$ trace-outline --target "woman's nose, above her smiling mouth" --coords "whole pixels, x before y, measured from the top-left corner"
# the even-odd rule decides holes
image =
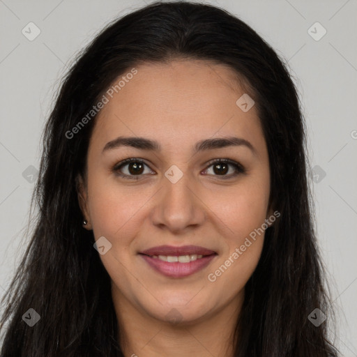
[[[206,206],[189,176],[183,174],[176,183],[162,178],[163,187],[155,197],[151,211],[153,225],[178,234],[203,224]]]

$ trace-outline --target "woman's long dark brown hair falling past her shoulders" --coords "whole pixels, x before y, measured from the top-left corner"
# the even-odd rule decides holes
[[[332,312],[314,233],[305,122],[287,65],[247,24],[226,10],[185,1],[156,2],[114,20],[63,78],[43,136],[38,209],[31,240],[2,303],[1,356],[123,356],[111,281],[93,231],[82,227],[78,177],[95,123],[66,132],[109,86],[141,63],[200,59],[229,66],[248,84],[268,148],[271,205],[281,213],[266,230],[261,258],[245,285],[234,331],[234,356],[337,356],[329,341]],[[98,115],[98,114],[97,114]],[[328,316],[319,327],[309,314]],[[33,308],[33,327],[22,315]]]

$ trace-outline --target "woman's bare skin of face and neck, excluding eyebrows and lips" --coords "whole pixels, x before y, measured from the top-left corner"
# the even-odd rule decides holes
[[[268,152],[255,106],[243,112],[236,105],[245,91],[221,64],[174,60],[136,68],[96,119],[79,188],[89,221],[85,228],[93,229],[96,240],[105,236],[112,243],[100,259],[112,279],[124,354],[233,356],[244,286],[259,261],[264,234],[214,282],[208,274],[273,213]],[[102,153],[119,136],[157,140],[162,151],[121,146]],[[199,140],[227,136],[248,140],[256,153],[247,146],[192,149]],[[146,163],[137,181],[112,169],[127,158]],[[224,179],[234,167],[221,174],[208,163],[216,158],[239,162],[245,174]],[[176,183],[165,176],[172,165],[183,173]],[[135,176],[132,164],[121,172]],[[199,245],[218,255],[202,271],[168,278],[138,254],[164,244]],[[179,322],[168,321],[172,309]]]

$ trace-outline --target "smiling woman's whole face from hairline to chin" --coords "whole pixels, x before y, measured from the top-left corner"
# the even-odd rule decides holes
[[[96,119],[79,190],[86,228],[116,299],[162,321],[208,319],[242,301],[261,255],[264,233],[252,232],[271,215],[261,124],[254,105],[236,104],[245,92],[226,66],[136,69]]]

